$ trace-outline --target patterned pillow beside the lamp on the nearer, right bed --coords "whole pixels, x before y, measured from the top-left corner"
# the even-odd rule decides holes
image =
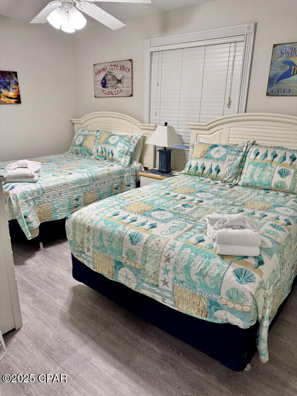
[[[237,184],[247,151],[254,141],[220,145],[195,142],[191,158],[181,172]]]

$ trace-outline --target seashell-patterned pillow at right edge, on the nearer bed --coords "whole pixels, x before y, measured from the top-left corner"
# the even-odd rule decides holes
[[[240,185],[297,194],[297,150],[253,145]]]

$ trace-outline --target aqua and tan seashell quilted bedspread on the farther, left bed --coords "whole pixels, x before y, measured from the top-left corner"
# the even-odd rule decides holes
[[[44,221],[65,218],[85,205],[136,187],[134,165],[70,153],[33,160],[42,162],[37,183],[3,184],[8,220],[17,219],[28,239],[38,235]],[[10,162],[0,162],[0,174],[6,174]]]

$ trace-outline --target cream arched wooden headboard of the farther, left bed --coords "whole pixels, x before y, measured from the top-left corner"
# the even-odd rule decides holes
[[[144,135],[144,145],[140,162],[143,166],[148,167],[148,169],[154,167],[154,146],[147,145],[146,141],[155,130],[155,125],[142,124],[133,117],[122,113],[114,113],[113,111],[97,111],[87,114],[82,118],[72,118],[71,122],[74,125],[74,130],[76,128],[105,129],[107,131]]]

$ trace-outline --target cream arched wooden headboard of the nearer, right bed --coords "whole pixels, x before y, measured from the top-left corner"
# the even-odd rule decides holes
[[[205,124],[188,122],[188,126],[191,143],[200,138],[211,143],[240,143],[254,139],[261,145],[297,148],[297,117],[291,115],[243,113],[226,115]]]

